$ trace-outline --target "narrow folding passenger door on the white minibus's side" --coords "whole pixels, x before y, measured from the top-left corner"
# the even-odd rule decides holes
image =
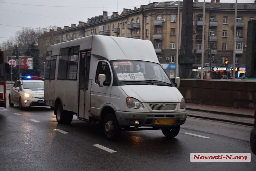
[[[79,64],[79,106],[78,118],[89,119],[90,116],[90,89],[91,82],[89,82],[89,71],[91,62],[91,51],[80,52]]]

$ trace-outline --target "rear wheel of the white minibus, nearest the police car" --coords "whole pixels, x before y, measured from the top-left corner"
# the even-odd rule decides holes
[[[65,112],[62,109],[61,104],[59,103],[56,106],[56,120],[60,124],[69,124],[73,120],[73,114],[70,114],[69,112]]]

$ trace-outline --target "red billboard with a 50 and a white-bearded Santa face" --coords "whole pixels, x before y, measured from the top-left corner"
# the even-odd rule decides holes
[[[20,56],[19,59],[16,56],[8,56],[8,64],[13,66],[13,69],[33,69],[33,57]]]

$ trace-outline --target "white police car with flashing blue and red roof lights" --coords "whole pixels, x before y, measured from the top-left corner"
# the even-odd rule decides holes
[[[44,81],[41,77],[21,76],[10,88],[9,105],[19,105],[20,109],[46,106]]]

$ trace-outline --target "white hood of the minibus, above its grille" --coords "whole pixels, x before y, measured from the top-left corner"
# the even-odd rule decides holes
[[[133,97],[140,102],[170,102],[180,103],[180,91],[176,87],[156,85],[125,85],[120,86],[128,97]]]

